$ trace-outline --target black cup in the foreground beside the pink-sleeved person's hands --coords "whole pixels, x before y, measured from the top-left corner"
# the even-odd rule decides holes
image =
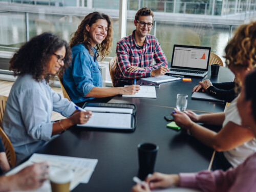
[[[153,143],[141,143],[138,145],[140,179],[144,180],[148,174],[154,172],[158,148]]]

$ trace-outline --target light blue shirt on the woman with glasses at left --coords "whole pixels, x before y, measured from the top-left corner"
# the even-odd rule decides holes
[[[17,163],[52,139],[52,111],[69,117],[75,104],[54,92],[45,80],[19,76],[9,94],[2,127],[13,144]]]

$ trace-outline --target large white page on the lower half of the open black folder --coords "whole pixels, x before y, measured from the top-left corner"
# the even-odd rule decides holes
[[[87,123],[77,124],[77,126],[110,129],[131,129],[132,114],[93,112],[93,116],[91,116]]]

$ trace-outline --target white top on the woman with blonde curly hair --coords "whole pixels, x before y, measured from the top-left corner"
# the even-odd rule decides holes
[[[241,125],[241,118],[237,109],[237,99],[234,99],[225,111],[225,120],[222,124],[224,127],[229,121]],[[237,167],[244,160],[256,152],[256,139],[245,142],[244,144],[233,148],[232,150],[223,152],[226,159],[233,167]]]

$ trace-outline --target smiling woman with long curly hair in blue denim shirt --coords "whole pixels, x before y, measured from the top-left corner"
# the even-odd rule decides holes
[[[78,106],[84,102],[107,101],[118,94],[133,95],[139,86],[102,88],[102,77],[97,58],[110,54],[112,48],[112,22],[108,15],[99,12],[88,14],[82,20],[70,41],[73,60],[63,74],[63,86],[70,99]],[[101,98],[101,99],[95,99]]]

